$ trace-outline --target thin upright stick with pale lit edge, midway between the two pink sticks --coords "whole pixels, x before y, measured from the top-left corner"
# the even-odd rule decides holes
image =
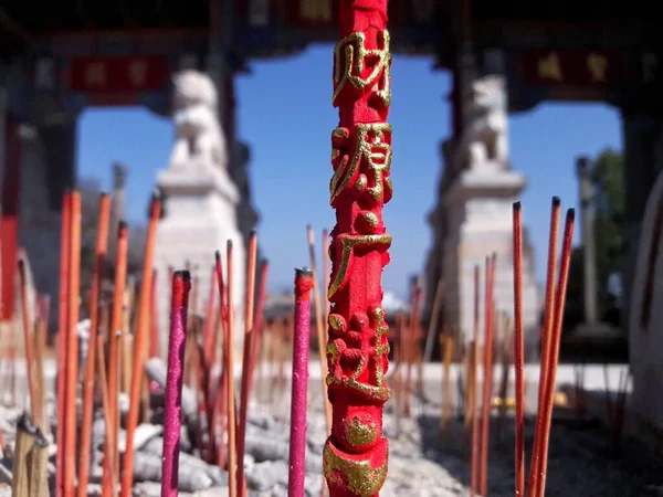
[[[228,402],[227,402],[227,420],[228,420],[228,495],[229,497],[238,497],[238,482],[236,482],[236,436],[235,436],[235,398],[234,398],[234,309],[233,309],[233,257],[232,257],[232,242],[228,241],[227,248],[227,263],[228,269],[228,292],[225,295],[228,309],[228,331],[225,332],[225,370],[228,374]]]

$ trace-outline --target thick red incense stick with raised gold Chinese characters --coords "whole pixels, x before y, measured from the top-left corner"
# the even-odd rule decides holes
[[[391,101],[387,0],[341,0],[334,56],[332,134],[336,210],[329,256],[328,395],[332,435],[324,450],[330,497],[376,496],[385,483],[389,442],[382,408],[390,391],[389,328],[381,308],[381,274],[391,236],[382,205],[391,199]]]

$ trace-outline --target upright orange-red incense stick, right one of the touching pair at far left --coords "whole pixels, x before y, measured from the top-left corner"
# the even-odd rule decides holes
[[[72,192],[69,266],[69,334],[64,434],[64,497],[74,496],[76,479],[76,384],[78,383],[78,297],[81,279],[81,193]]]

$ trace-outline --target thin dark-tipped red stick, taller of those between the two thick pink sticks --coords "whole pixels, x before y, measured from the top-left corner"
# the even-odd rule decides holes
[[[241,495],[246,495],[244,482],[244,442],[246,436],[246,412],[249,410],[249,372],[251,369],[251,341],[253,337],[253,306],[255,297],[255,265],[257,257],[257,237],[251,232],[249,237],[249,260],[246,264],[246,294],[244,296],[244,351],[242,356],[242,383],[240,387],[240,423],[238,430],[238,485]]]

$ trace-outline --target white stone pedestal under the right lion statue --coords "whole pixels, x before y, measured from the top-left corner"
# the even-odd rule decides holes
[[[446,191],[449,232],[443,245],[445,319],[463,338],[474,329],[474,268],[480,266],[480,342],[484,335],[486,256],[497,253],[495,306],[514,314],[513,203],[525,187],[525,178],[498,167],[463,171]],[[523,247],[523,311],[526,350],[537,343],[538,300],[534,261]],[[502,324],[498,322],[502,327]]]

